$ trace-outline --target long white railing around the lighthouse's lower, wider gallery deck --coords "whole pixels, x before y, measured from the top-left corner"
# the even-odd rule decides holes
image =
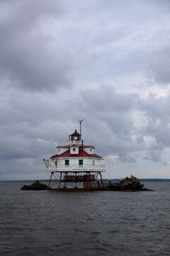
[[[54,164],[47,166],[47,171],[106,171],[106,166],[103,164]]]

